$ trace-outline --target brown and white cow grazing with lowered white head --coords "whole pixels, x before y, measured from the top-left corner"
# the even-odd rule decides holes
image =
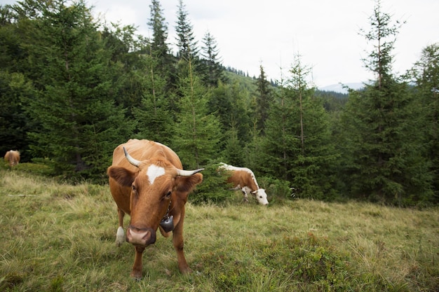
[[[225,163],[220,163],[219,168],[231,172],[227,182],[232,184],[232,190],[241,189],[243,191],[245,202],[248,202],[248,194],[251,193],[256,196],[259,204],[269,204],[269,201],[266,200],[265,190],[259,188],[255,174],[250,169],[247,167],[235,167]]]

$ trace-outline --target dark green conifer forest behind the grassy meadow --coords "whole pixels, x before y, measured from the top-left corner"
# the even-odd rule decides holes
[[[252,169],[271,200],[439,203],[439,43],[394,74],[404,24],[379,1],[361,32],[374,44],[363,60],[374,80],[346,95],[314,88],[300,55],[282,81],[262,65],[257,77],[239,74],[222,65],[210,32],[195,41],[184,1],[176,40],[160,1],[149,8],[146,37],[96,20],[83,0],[0,6],[1,155],[18,150],[23,167],[107,183],[114,148],[149,139],[185,169],[205,168],[198,202],[222,200],[215,170],[225,162]]]

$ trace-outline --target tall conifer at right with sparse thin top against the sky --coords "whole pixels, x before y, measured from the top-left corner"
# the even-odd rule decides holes
[[[351,191],[358,197],[412,204],[413,195],[428,193],[428,174],[419,152],[419,129],[407,85],[393,75],[393,45],[400,23],[382,13],[377,1],[365,34],[374,49],[365,67],[376,81],[351,90],[344,126],[351,160],[346,162]]]

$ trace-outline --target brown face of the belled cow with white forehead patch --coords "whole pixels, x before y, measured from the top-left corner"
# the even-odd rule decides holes
[[[135,160],[132,164],[138,167],[137,172],[113,166],[108,174],[131,188],[126,240],[136,246],[148,246],[156,241],[156,230],[171,202],[186,202],[187,194],[203,181],[203,175],[197,173],[202,169],[184,171],[168,160]]]

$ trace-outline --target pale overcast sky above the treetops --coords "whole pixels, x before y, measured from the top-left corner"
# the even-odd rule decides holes
[[[94,14],[107,21],[135,25],[151,36],[147,22],[150,0],[86,0]],[[15,2],[13,0],[0,0]],[[168,43],[175,48],[178,0],[160,0],[168,23]],[[301,55],[311,67],[309,82],[319,88],[336,83],[357,83],[373,78],[364,68],[369,46],[360,29],[370,30],[373,0],[183,0],[194,35],[210,32],[217,41],[224,66],[267,78],[288,77],[288,69]],[[393,50],[394,73],[403,74],[419,60],[421,50],[439,42],[438,0],[381,0],[381,11],[393,21],[406,21]]]

